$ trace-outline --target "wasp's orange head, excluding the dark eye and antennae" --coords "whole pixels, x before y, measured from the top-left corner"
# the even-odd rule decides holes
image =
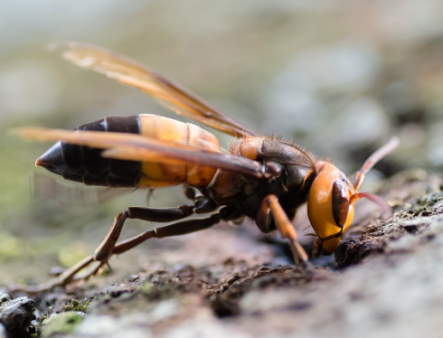
[[[333,211],[333,185],[335,181],[341,181],[341,172],[330,163],[321,163],[324,166],[319,170],[309,190],[307,198],[307,214],[309,221],[320,239],[334,237],[341,233],[340,237],[323,240],[325,253],[333,252],[340,243],[344,233],[353,221],[353,204],[349,206],[349,213],[343,230],[335,223]],[[351,187],[350,187],[351,189]],[[348,191],[349,196],[353,193]]]

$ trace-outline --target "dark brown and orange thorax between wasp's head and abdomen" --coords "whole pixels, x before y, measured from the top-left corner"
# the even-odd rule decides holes
[[[315,160],[303,148],[273,137],[245,137],[231,146],[231,154],[248,157],[262,164],[281,165],[278,177],[258,179],[246,174],[219,170],[206,193],[219,205],[233,205],[255,219],[264,197],[275,194],[293,217],[306,195],[315,173]]]

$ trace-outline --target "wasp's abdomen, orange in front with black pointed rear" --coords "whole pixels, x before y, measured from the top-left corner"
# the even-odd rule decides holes
[[[156,115],[106,117],[82,125],[79,130],[132,133],[171,141],[202,150],[218,151],[211,133],[189,123]],[[205,142],[202,142],[205,141]],[[162,164],[101,157],[101,149],[57,142],[36,162],[63,178],[87,185],[109,187],[165,187],[189,183],[196,187],[211,182],[216,169],[194,164]]]

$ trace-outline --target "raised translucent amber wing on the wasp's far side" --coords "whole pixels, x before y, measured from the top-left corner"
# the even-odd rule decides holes
[[[82,68],[105,74],[108,78],[127,86],[141,89],[177,114],[190,117],[231,136],[257,136],[249,128],[212,108],[192,92],[126,56],[81,42],[53,43],[50,49],[61,47],[67,48],[63,52],[66,60]]]

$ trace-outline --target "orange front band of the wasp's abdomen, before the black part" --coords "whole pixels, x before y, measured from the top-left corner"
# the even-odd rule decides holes
[[[219,152],[219,141],[201,127],[157,115],[140,115],[140,135],[169,141],[201,150]],[[160,188],[189,183],[195,187],[209,184],[216,168],[197,164],[162,164],[142,162],[142,177],[137,187]]]

